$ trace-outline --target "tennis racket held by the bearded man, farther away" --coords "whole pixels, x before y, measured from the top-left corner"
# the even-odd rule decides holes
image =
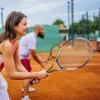
[[[58,44],[54,45],[50,50],[50,54],[47,60],[49,61],[52,58],[56,58],[59,50],[60,50],[60,46]]]

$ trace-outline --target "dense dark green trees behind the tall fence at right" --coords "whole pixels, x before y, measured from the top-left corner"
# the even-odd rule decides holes
[[[80,20],[79,22],[74,22],[73,24],[70,25],[70,30],[73,29],[74,33],[92,33],[97,30],[100,31],[100,18],[95,17],[92,20]]]

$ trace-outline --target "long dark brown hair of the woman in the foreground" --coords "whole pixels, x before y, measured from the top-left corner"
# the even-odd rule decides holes
[[[0,35],[0,43],[4,40],[6,40],[7,38],[9,39],[14,39],[16,38],[17,34],[15,31],[15,26],[17,26],[20,21],[26,17],[23,13],[21,12],[16,12],[13,11],[11,12],[5,22],[5,30],[4,32]]]

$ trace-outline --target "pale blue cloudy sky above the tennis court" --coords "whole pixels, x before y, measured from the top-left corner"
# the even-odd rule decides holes
[[[71,2],[71,0],[0,0],[0,8],[4,8],[4,23],[9,13],[20,11],[27,16],[29,27],[36,24],[51,25],[56,19],[62,19],[68,26],[68,1]],[[81,20],[82,14],[87,11],[89,18],[92,19],[93,13],[98,15],[99,8],[100,0],[74,0],[74,21]]]

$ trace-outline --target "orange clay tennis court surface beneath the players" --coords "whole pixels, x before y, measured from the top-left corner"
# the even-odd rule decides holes
[[[94,49],[96,42],[93,42]],[[39,54],[47,58],[49,54]],[[31,57],[29,57],[31,58]],[[49,65],[52,61],[49,62]],[[42,68],[31,59],[33,71]],[[8,82],[8,92],[11,100],[21,100],[22,80],[11,80],[3,72]],[[100,100],[100,53],[94,51],[91,61],[84,67],[74,71],[58,71],[40,83],[32,86],[35,92],[29,93],[32,100]]]

